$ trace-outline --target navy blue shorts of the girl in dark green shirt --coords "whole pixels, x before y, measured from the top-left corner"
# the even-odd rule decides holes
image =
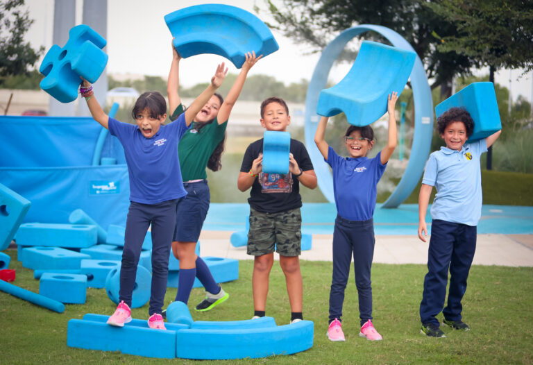
[[[208,181],[184,182],[183,187],[187,195],[180,198],[176,207],[174,241],[197,242],[211,199]]]

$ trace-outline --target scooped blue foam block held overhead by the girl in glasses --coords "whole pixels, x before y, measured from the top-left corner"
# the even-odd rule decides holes
[[[373,123],[387,112],[387,96],[400,96],[415,59],[412,51],[363,41],[348,74],[320,92],[316,113],[332,117],[344,112],[355,126]]]

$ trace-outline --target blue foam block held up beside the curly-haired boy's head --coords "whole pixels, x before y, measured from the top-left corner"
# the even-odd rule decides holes
[[[459,90],[435,107],[437,118],[453,107],[466,109],[474,121],[469,142],[487,138],[502,129],[493,83],[471,83]]]

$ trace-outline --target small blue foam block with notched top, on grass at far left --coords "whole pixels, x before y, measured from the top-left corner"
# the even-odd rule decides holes
[[[87,276],[65,273],[44,273],[39,294],[61,303],[83,304],[87,297]]]

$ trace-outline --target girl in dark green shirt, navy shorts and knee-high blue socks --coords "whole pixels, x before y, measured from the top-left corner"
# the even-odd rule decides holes
[[[169,73],[167,92],[170,110],[174,110],[171,119],[174,120],[183,113],[183,105],[178,94],[179,62],[181,57],[173,49],[173,60]],[[210,192],[205,168],[218,171],[221,167],[220,159],[224,148],[227,121],[235,101],[250,71],[257,60],[255,52],[247,53],[241,72],[233,84],[226,101],[222,96],[214,94],[208,103],[203,105],[194,116],[192,128],[183,135],[178,146],[180,168],[183,176],[183,187],[187,196],[178,202],[176,214],[176,230],[172,242],[174,256],[180,260],[180,275],[178,278],[178,293],[176,300],[187,303],[194,284],[194,278],[205,287],[205,299],[196,305],[200,312],[208,311],[226,299],[227,294],[214,281],[205,262],[196,255],[196,242],[200,237],[203,221],[208,214]],[[183,219],[183,217],[188,217]]]

